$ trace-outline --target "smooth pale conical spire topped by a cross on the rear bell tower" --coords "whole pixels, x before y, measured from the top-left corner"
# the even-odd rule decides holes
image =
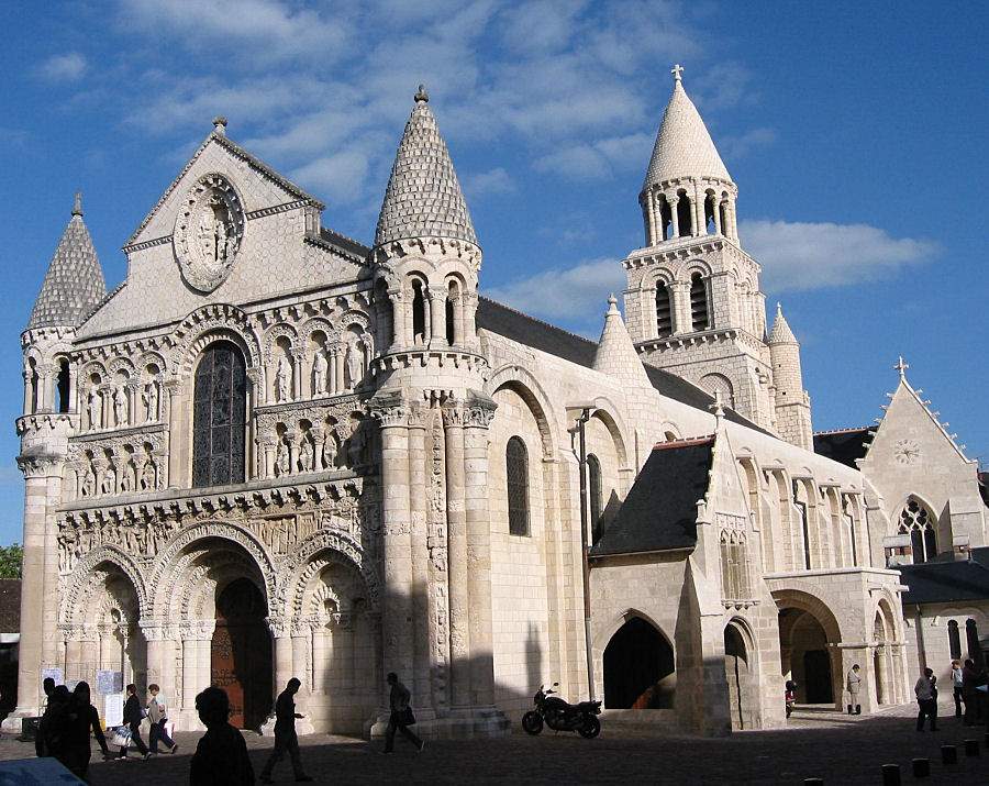
[[[677,177],[716,177],[731,182],[700,112],[684,90],[682,68],[674,66],[674,91],[666,104],[642,190]]]

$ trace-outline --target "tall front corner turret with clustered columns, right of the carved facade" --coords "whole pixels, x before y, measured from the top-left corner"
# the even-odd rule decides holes
[[[475,325],[481,250],[429,102],[420,86],[369,259],[382,347],[370,405],[381,429],[385,671],[412,690],[425,734],[501,734],[487,492],[494,402]]]

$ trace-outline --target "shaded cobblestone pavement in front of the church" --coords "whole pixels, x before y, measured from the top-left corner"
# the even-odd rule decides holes
[[[903,783],[914,783],[911,759],[931,759],[932,777],[925,783],[989,783],[986,727],[965,728],[955,718],[942,718],[936,733],[918,733],[913,708],[894,708],[875,717],[849,718],[833,711],[798,710],[786,729],[749,731],[726,739],[659,737],[642,726],[602,723],[597,740],[575,734],[531,738],[518,731],[508,739],[427,742],[422,753],[396,741],[385,756],[380,743],[343,737],[302,738],[302,761],[316,783],[499,783],[585,782],[668,784],[802,784],[822,777],[825,784],[879,784],[880,766],[899,764]],[[189,754],[198,734],[179,733],[179,752],[141,761],[95,761],[90,776],[107,784],[188,783]],[[260,772],[273,741],[248,733],[255,772]],[[965,739],[980,741],[981,756],[967,759]],[[941,745],[957,744],[959,763],[951,771],[941,765]],[[0,759],[32,755],[31,743],[4,737]],[[291,783],[289,763],[276,770],[276,781]]]

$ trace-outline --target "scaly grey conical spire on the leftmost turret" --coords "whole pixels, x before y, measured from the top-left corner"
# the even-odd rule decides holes
[[[48,265],[27,329],[75,328],[105,295],[103,268],[82,223],[82,195],[77,193],[73,218]]]

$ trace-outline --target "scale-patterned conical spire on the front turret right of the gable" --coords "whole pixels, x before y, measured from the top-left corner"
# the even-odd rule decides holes
[[[422,85],[391,167],[375,245],[411,237],[449,237],[477,245],[457,174]]]

